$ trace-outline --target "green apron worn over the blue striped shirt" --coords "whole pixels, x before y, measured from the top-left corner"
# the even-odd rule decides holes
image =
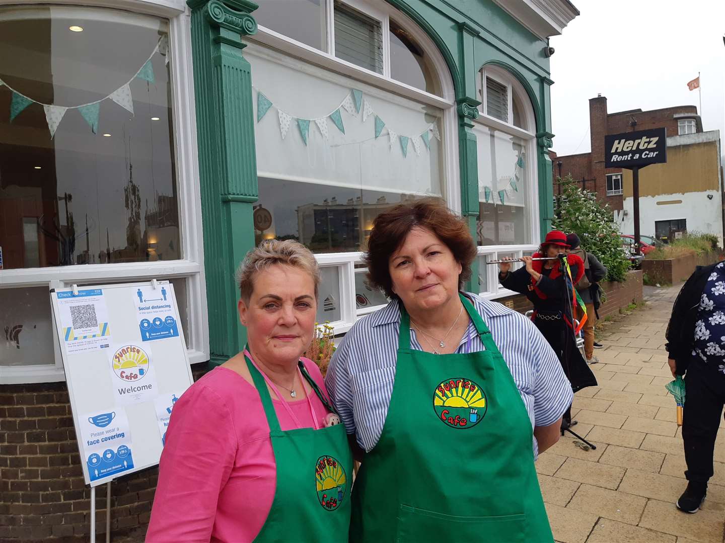
[[[491,332],[460,299],[486,350],[411,350],[400,304],[392,397],[355,479],[351,542],[553,540],[526,407]]]

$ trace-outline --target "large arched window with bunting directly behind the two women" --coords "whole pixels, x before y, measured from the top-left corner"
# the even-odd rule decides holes
[[[360,264],[373,219],[425,195],[460,208],[452,80],[426,34],[383,2],[259,5],[256,43],[244,49],[257,213],[269,218],[255,237],[296,239],[318,255],[318,320],[344,332],[386,303]]]

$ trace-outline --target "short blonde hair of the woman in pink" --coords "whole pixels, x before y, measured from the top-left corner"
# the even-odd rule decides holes
[[[310,249],[294,240],[265,240],[249,251],[244,261],[236,270],[236,284],[239,286],[239,297],[249,303],[254,292],[254,277],[258,271],[270,266],[283,264],[307,271],[315,284],[315,299],[318,298],[320,285],[320,268]]]

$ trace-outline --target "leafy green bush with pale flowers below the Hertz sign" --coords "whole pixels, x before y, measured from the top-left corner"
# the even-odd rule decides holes
[[[582,190],[571,175],[560,182],[561,193],[554,198],[553,226],[567,234],[576,232],[581,248],[607,266],[607,280],[624,281],[631,263],[622,248],[611,209],[602,205],[595,193]]]

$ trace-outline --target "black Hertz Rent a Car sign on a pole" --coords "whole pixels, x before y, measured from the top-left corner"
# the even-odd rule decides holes
[[[664,128],[624,132],[604,137],[604,167],[633,168],[667,161]]]

